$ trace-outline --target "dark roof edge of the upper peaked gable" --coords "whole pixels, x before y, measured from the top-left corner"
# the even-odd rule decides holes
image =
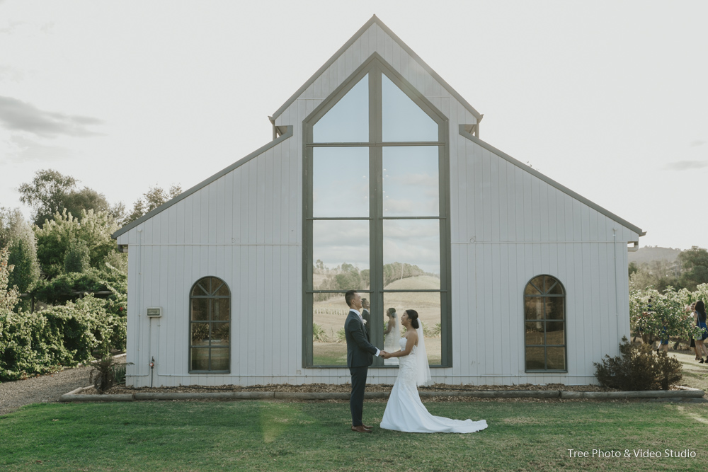
[[[365,23],[365,25],[363,25],[361,28],[359,28],[359,30],[356,33],[354,33],[354,35],[342,47],[340,47],[339,50],[337,52],[335,52],[332,57],[329,58],[329,61],[325,62],[324,65],[322,67],[320,67],[312,75],[312,77],[309,78],[309,80],[307,82],[305,82],[300,88],[298,88],[297,92],[293,93],[292,96],[290,98],[288,98],[287,101],[285,103],[283,103],[280,106],[280,108],[278,108],[278,110],[275,111],[275,113],[273,113],[273,116],[270,117],[270,120],[275,121],[275,119],[278,116],[280,116],[282,114],[282,112],[284,112],[287,109],[287,107],[292,105],[292,103],[295,102],[295,100],[297,100],[297,98],[299,96],[301,96],[302,93],[304,93],[304,91],[306,91],[307,88],[309,86],[311,86],[319,76],[324,74],[324,71],[326,71],[332,64],[334,64],[334,62],[336,62],[336,60],[339,59],[339,57],[342,54],[344,54],[344,52],[346,52],[346,50],[348,50],[349,47],[351,45],[353,45],[354,42],[356,40],[358,40],[358,38],[360,38],[360,36],[366,32],[366,30],[368,30],[371,27],[371,25],[373,25],[375,23],[379,26],[379,28],[384,30],[384,33],[386,33],[394,41],[396,41],[404,51],[406,51],[408,54],[410,54],[410,56],[413,57],[413,59],[415,59],[416,62],[418,62],[418,64],[421,64],[421,67],[423,67],[423,69],[425,69],[428,72],[428,74],[433,76],[433,78],[436,81],[438,81],[440,83],[440,85],[443,86],[445,88],[445,90],[447,90],[450,93],[450,95],[455,97],[457,99],[457,101],[459,101],[459,103],[461,103],[464,106],[464,108],[467,108],[469,113],[472,113],[472,115],[474,115],[474,117],[476,117],[477,123],[479,123],[482,120],[482,117],[484,115],[481,115],[481,113],[479,113],[477,110],[475,110],[474,107],[472,107],[472,105],[467,103],[467,100],[462,98],[462,96],[459,93],[457,93],[457,91],[455,91],[455,89],[452,88],[450,86],[450,84],[447,84],[447,82],[444,79],[442,79],[442,77],[440,77],[437,72],[435,72],[428,64],[426,64],[426,62],[423,61],[423,59],[421,59],[421,57],[418,56],[418,54],[413,52],[413,50],[409,47],[409,45],[406,45],[406,43],[403,42],[401,40],[401,38],[396,36],[396,33],[394,33],[392,30],[390,30],[390,28],[387,25],[384,25],[384,22],[379,20],[379,18],[376,15],[372,16],[371,19]]]

